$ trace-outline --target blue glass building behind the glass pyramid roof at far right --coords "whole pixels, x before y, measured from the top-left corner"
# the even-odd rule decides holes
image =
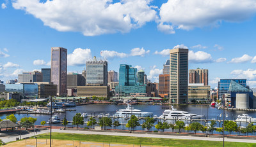
[[[219,99],[222,97],[223,94],[228,93],[230,81],[235,81],[239,85],[246,87],[246,79],[221,79],[218,82],[218,98]]]

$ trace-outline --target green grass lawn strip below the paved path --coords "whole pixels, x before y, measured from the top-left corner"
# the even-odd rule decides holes
[[[147,136],[147,134],[145,134]],[[38,139],[49,139],[49,134],[40,134]],[[186,138],[186,136],[184,136]],[[164,139],[150,137],[128,137],[128,136],[104,136],[104,135],[87,135],[72,133],[52,133],[52,139],[91,141],[99,143],[118,143],[118,144],[141,144],[150,146],[223,146],[220,141],[198,141],[187,139]],[[254,143],[232,143],[225,142],[225,146],[256,146]]]

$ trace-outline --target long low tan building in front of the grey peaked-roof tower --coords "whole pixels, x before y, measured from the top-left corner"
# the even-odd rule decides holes
[[[109,97],[108,86],[77,86],[77,97]]]

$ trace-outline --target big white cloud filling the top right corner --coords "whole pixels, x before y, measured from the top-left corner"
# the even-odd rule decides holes
[[[160,22],[177,29],[218,26],[221,21],[241,22],[256,12],[255,0],[168,0],[162,4]]]

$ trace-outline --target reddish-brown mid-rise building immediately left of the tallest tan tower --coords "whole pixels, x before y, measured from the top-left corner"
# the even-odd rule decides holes
[[[160,97],[170,97],[170,74],[159,74],[158,91]]]

